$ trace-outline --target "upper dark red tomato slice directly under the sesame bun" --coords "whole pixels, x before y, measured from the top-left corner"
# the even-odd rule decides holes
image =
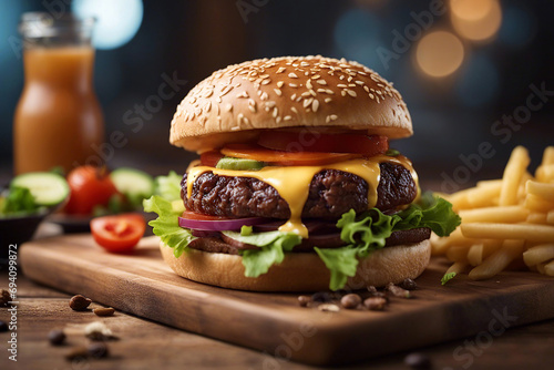
[[[382,135],[324,134],[319,132],[265,131],[258,144],[275,151],[357,153],[366,156],[389,150],[389,138]]]

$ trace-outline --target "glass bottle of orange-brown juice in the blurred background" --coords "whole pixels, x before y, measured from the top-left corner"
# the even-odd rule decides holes
[[[69,172],[98,162],[94,148],[104,140],[104,120],[92,82],[93,25],[93,18],[70,13],[23,14],[25,81],[13,122],[17,174],[55,166]]]

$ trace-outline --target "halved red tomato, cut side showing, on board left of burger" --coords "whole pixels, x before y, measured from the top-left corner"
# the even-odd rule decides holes
[[[96,217],[91,220],[94,240],[109,251],[132,250],[146,229],[144,217],[138,214]]]

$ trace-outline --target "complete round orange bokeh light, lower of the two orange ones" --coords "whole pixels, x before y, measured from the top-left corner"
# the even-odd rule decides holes
[[[462,42],[448,31],[425,34],[416,49],[417,65],[433,78],[444,78],[454,73],[462,64],[463,56]]]

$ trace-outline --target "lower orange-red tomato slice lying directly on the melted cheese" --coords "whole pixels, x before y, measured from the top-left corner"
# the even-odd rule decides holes
[[[235,158],[255,160],[284,166],[317,166],[360,156],[348,153],[271,151],[249,144],[228,144],[222,150],[222,153]]]

